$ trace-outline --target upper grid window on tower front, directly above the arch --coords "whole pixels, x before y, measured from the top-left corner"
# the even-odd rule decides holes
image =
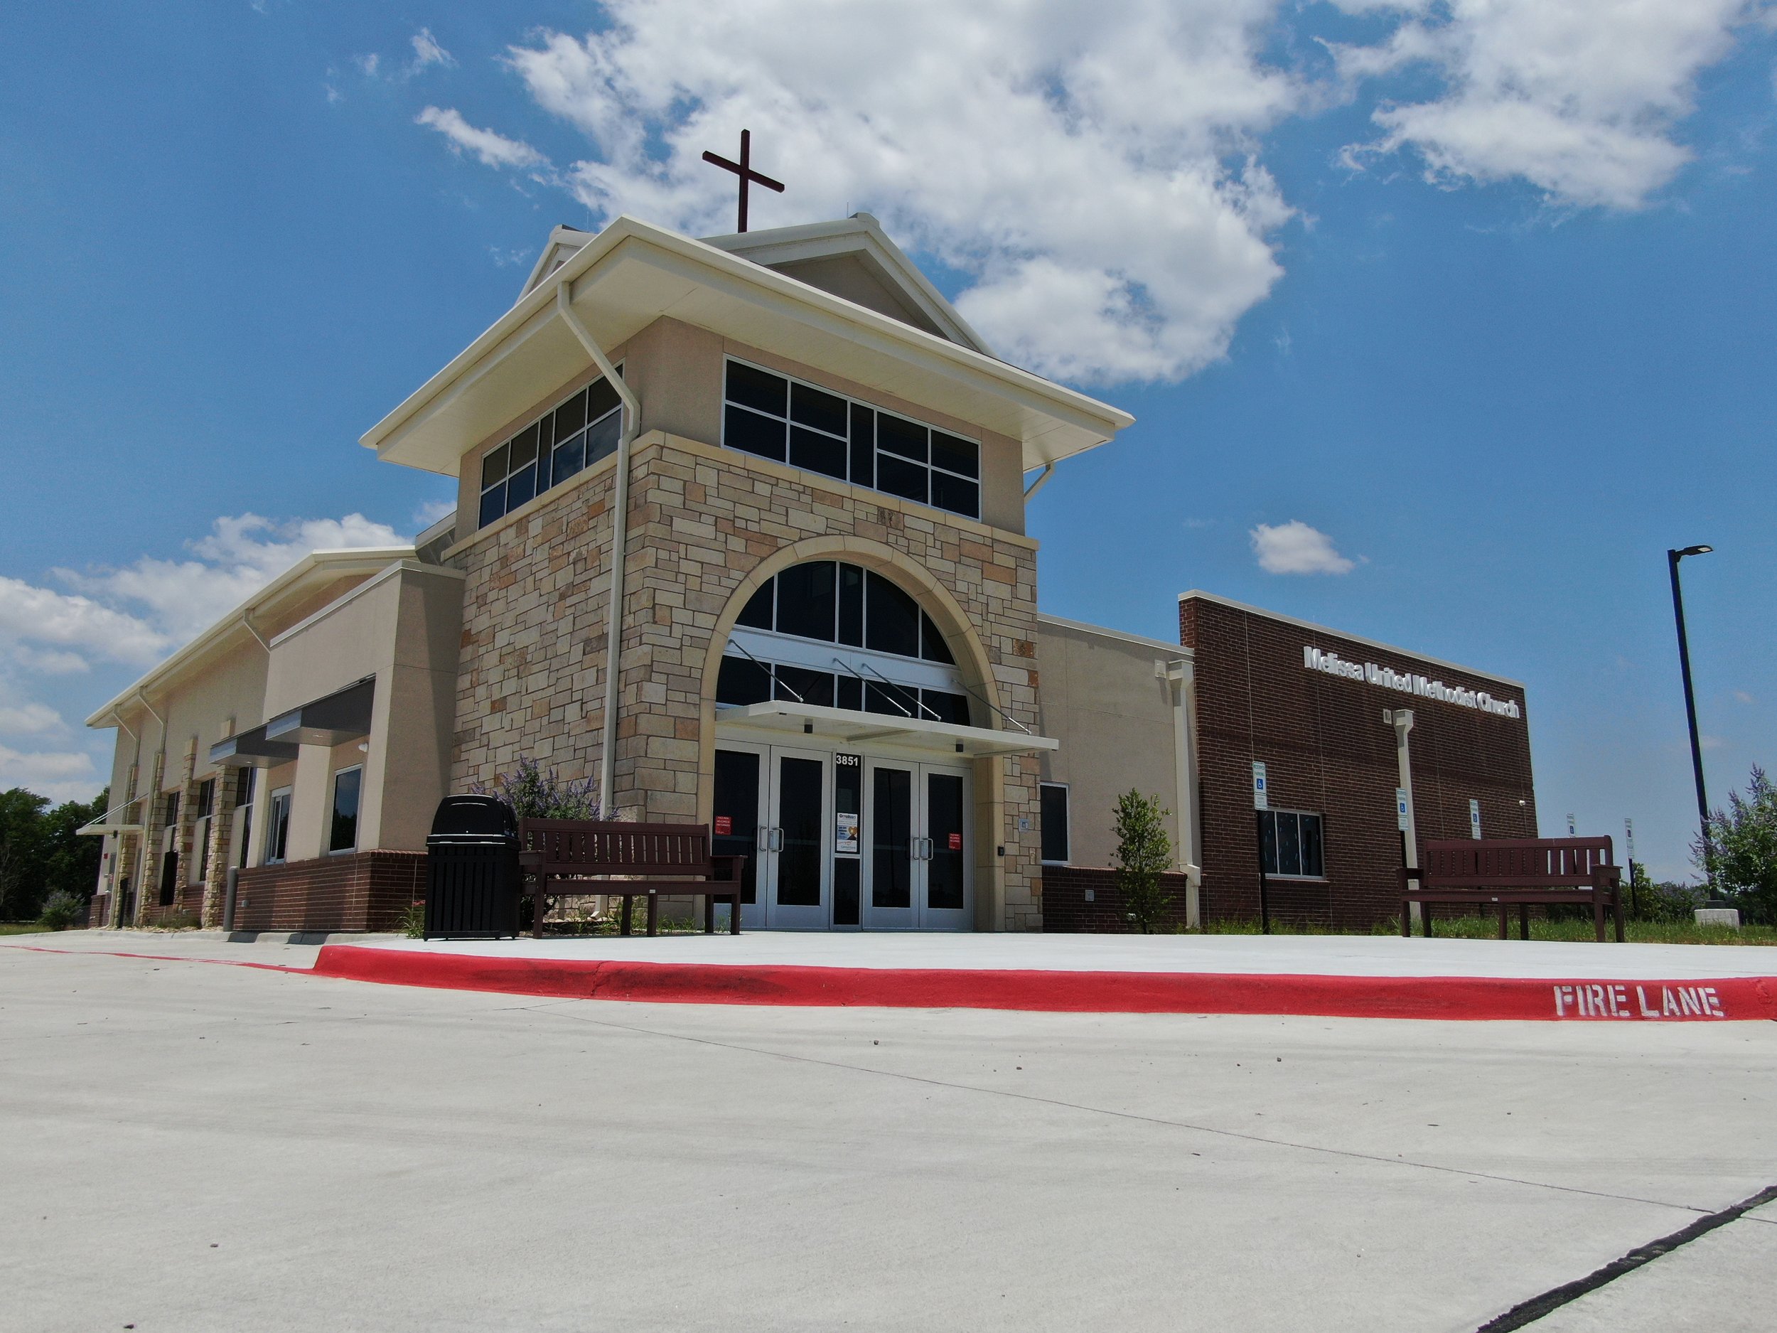
[[[981,444],[729,361],[721,443],[920,505],[981,517]]]

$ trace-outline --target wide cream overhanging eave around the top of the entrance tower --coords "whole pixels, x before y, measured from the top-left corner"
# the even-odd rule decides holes
[[[1084,393],[626,215],[361,443],[387,462],[455,476],[467,450],[585,370],[586,352],[554,307],[562,283],[606,348],[657,318],[677,318],[1011,435],[1024,443],[1025,471],[1104,444],[1134,423]]]

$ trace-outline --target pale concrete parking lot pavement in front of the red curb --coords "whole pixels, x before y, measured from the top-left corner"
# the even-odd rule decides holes
[[[1475,1329],[1777,1182],[1773,1074],[1756,1022],[643,1006],[0,947],[4,1322]],[[1770,1230],[1535,1328],[1766,1328]]]

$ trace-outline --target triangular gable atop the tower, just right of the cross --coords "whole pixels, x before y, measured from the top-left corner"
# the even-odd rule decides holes
[[[968,327],[869,213],[853,213],[841,222],[705,236],[704,243],[993,355],[986,339]]]

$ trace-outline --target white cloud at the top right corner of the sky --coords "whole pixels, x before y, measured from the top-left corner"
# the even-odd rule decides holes
[[[1638,208],[1690,160],[1672,130],[1749,0],[1335,0],[1400,18],[1374,46],[1333,46],[1343,76],[1430,68],[1427,101],[1384,103],[1352,164],[1413,149],[1429,180],[1523,178],[1573,206]]]

